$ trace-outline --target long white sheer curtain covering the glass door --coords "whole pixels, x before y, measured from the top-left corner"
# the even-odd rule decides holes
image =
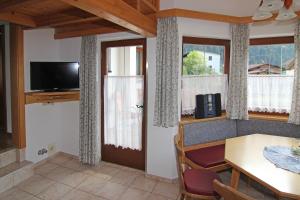
[[[144,76],[105,76],[104,143],[142,149]]]

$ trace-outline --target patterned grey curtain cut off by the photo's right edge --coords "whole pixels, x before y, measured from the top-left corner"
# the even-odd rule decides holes
[[[289,117],[289,123],[300,125],[300,21],[297,22],[295,30],[295,76],[293,87],[292,106]]]

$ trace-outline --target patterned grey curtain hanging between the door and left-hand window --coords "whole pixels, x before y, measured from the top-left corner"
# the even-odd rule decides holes
[[[158,20],[154,125],[178,123],[179,37],[176,17]]]

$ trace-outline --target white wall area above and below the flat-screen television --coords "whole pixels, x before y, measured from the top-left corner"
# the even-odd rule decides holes
[[[25,91],[30,91],[30,61],[79,61],[79,38],[54,40],[52,29],[24,33]],[[37,162],[38,150],[55,145],[55,151],[78,155],[79,103],[26,105],[26,159]]]

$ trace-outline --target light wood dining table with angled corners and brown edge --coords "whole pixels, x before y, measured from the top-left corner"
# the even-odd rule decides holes
[[[296,141],[295,138],[263,134],[226,139],[225,161],[232,166],[231,186],[238,188],[243,173],[273,191],[277,197],[299,200],[300,174],[276,167],[263,155],[265,147],[291,147]]]

